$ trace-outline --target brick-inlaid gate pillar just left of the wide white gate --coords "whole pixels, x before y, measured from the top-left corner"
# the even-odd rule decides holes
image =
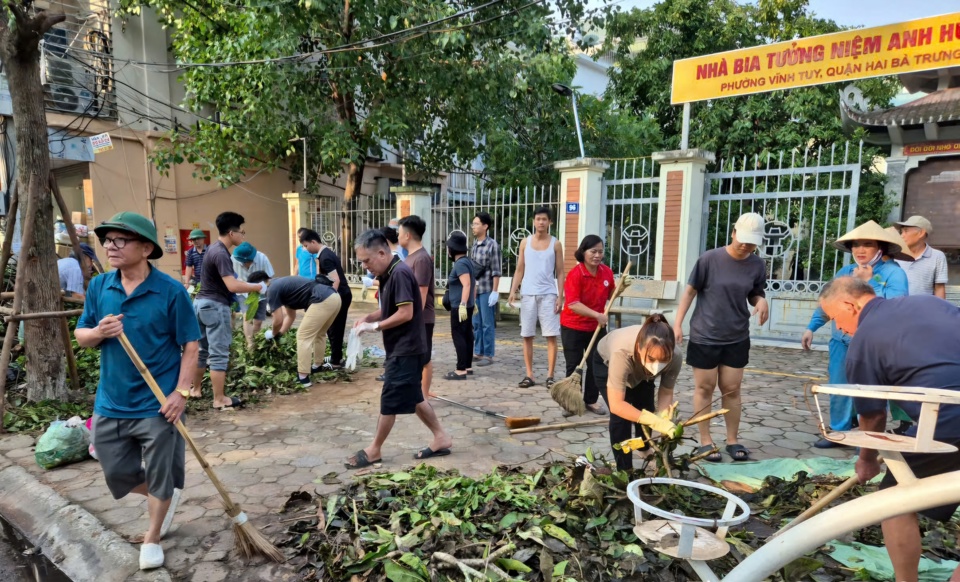
[[[700,256],[704,174],[715,156],[706,150],[689,149],[657,152],[652,157],[660,164],[654,278],[678,281],[678,288],[683,289]],[[662,307],[675,304],[676,298],[660,301]]]

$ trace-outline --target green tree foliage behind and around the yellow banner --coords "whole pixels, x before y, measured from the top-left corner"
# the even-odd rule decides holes
[[[611,15],[607,48],[619,67],[608,93],[636,115],[656,119],[667,148],[680,142],[680,106],[671,105],[673,61],[727,50],[788,41],[842,30],[810,12],[807,0],[664,0],[643,10]],[[876,106],[884,107],[900,88],[895,78],[857,82]],[[692,104],[690,143],[732,158],[859,141],[840,119],[840,84],[772,91]],[[864,148],[858,220],[885,221],[890,202],[874,158],[884,152]]]

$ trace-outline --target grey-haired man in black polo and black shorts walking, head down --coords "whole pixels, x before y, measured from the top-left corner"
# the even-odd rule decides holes
[[[386,380],[380,394],[380,419],[373,442],[347,459],[350,469],[379,463],[380,448],[393,429],[398,414],[416,414],[433,433],[430,444],[415,459],[450,454],[453,439],[440,426],[440,421],[421,392],[421,372],[427,353],[423,324],[423,299],[420,286],[410,267],[390,252],[383,233],[368,230],[356,240],[357,259],[380,282],[380,306],[354,325],[357,333],[383,332],[387,352]]]

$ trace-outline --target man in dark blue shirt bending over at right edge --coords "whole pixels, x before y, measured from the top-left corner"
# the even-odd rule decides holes
[[[960,391],[960,308],[929,295],[884,299],[873,287],[854,277],[831,281],[820,295],[820,306],[837,327],[852,335],[847,352],[847,380],[875,386],[919,386]],[[883,432],[887,422],[884,400],[856,399],[860,429]],[[914,420],[920,403],[900,401]],[[915,432],[915,428],[911,429]],[[912,433],[908,431],[910,436]],[[934,438],[960,445],[960,406],[941,405]],[[960,452],[903,454],[918,478],[960,470]],[[877,451],[860,449],[857,475],[866,483],[880,473]],[[888,470],[880,488],[896,485]],[[957,504],[935,507],[922,513],[932,519],[949,520]],[[883,537],[895,579],[916,581],[920,563],[920,528],[916,514],[900,515],[882,523]],[[954,572],[954,579],[960,568]]]

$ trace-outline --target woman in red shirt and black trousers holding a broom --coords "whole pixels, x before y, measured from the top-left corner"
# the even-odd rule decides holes
[[[560,313],[560,341],[563,343],[563,358],[567,362],[567,376],[573,374],[580,364],[598,325],[600,335],[597,342],[607,335],[607,316],[603,311],[614,287],[613,271],[603,264],[603,240],[599,236],[588,234],[583,237],[573,256],[577,259],[577,266],[567,273],[563,286],[566,303]],[[595,343],[587,359],[588,370],[593,369],[596,358]],[[583,401],[587,410],[594,414],[606,414],[603,404],[598,402],[600,391],[593,374],[588,372],[584,378]]]

